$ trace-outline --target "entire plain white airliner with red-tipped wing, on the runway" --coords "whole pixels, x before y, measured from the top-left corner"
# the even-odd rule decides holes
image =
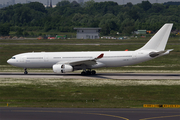
[[[166,54],[173,24],[165,24],[143,47],[135,51],[95,52],[31,52],[13,56],[7,63],[24,68],[52,68],[55,73],[83,70],[81,74],[96,74],[95,68],[134,65]]]

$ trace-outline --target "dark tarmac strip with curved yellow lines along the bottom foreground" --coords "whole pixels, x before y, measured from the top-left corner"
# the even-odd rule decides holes
[[[180,109],[0,108],[1,120],[179,120]]]

